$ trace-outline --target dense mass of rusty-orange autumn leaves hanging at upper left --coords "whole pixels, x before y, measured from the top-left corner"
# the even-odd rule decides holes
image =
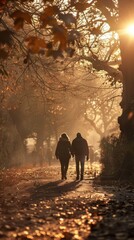
[[[14,38],[18,38],[19,35],[21,41],[25,43],[24,47],[27,54],[45,53],[46,56],[55,58],[61,52],[66,52],[72,56],[74,45],[80,34],[76,30],[74,31],[76,19],[73,13],[66,13],[65,9],[62,13],[63,3],[55,5],[54,1],[15,2],[3,0],[0,4],[2,15],[0,29],[1,57],[5,57],[7,53],[5,45],[11,46]],[[74,8],[75,14],[81,7],[84,10],[88,5],[70,3],[70,9]],[[7,18],[8,22],[6,21]],[[24,30],[26,31],[25,34],[24,32],[22,34]]]

